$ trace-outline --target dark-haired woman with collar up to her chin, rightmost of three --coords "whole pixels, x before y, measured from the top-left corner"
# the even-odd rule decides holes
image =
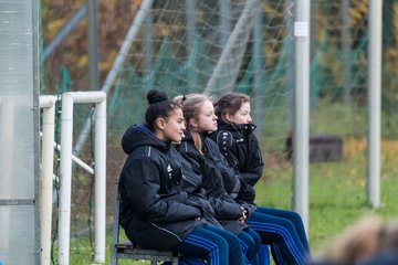
[[[286,229],[292,236],[289,241],[295,247],[289,244],[282,247],[270,244],[273,256],[277,259],[279,253],[285,250],[284,253],[292,253],[289,264],[303,264],[310,255],[310,247],[301,216],[293,211],[254,205],[254,184],[262,176],[264,163],[259,141],[253,134],[255,125],[250,116],[249,96],[228,93],[214,104],[214,109],[219,118],[218,130],[210,137],[218,144],[229,165],[239,172],[241,190],[237,201],[249,203],[255,208],[255,212],[261,213],[249,218],[247,223],[270,240],[277,240],[280,236],[273,232],[274,227]],[[275,226],[263,226],[263,223],[273,223]]]

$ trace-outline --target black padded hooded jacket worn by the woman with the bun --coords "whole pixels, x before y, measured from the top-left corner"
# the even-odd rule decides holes
[[[203,210],[181,190],[178,153],[143,125],[125,132],[122,147],[128,155],[119,179],[121,225],[135,244],[172,250],[196,226],[206,223]]]

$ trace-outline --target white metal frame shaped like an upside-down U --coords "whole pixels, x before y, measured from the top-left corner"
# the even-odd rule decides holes
[[[70,92],[62,95],[59,264],[69,264],[72,183],[73,104],[96,103],[95,250],[94,262],[105,263],[106,232],[106,94]]]

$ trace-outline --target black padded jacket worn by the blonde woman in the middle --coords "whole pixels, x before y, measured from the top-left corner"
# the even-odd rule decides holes
[[[181,145],[177,150],[190,162],[196,177],[186,181],[189,187],[185,189],[192,190],[203,188],[205,195],[214,209],[216,218],[220,224],[228,231],[239,234],[247,225],[238,221],[242,216],[242,206],[226,191],[227,182],[233,191],[238,191],[240,183],[234,174],[234,170],[229,167],[227,161],[218,150],[216,142],[207,137],[202,137],[202,155],[196,149],[190,134],[187,131]]]

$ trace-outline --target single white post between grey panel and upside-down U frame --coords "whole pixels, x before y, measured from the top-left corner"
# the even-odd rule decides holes
[[[72,136],[73,96],[62,95],[61,114],[61,173],[59,206],[59,264],[69,264],[71,230],[71,187],[72,187]]]

